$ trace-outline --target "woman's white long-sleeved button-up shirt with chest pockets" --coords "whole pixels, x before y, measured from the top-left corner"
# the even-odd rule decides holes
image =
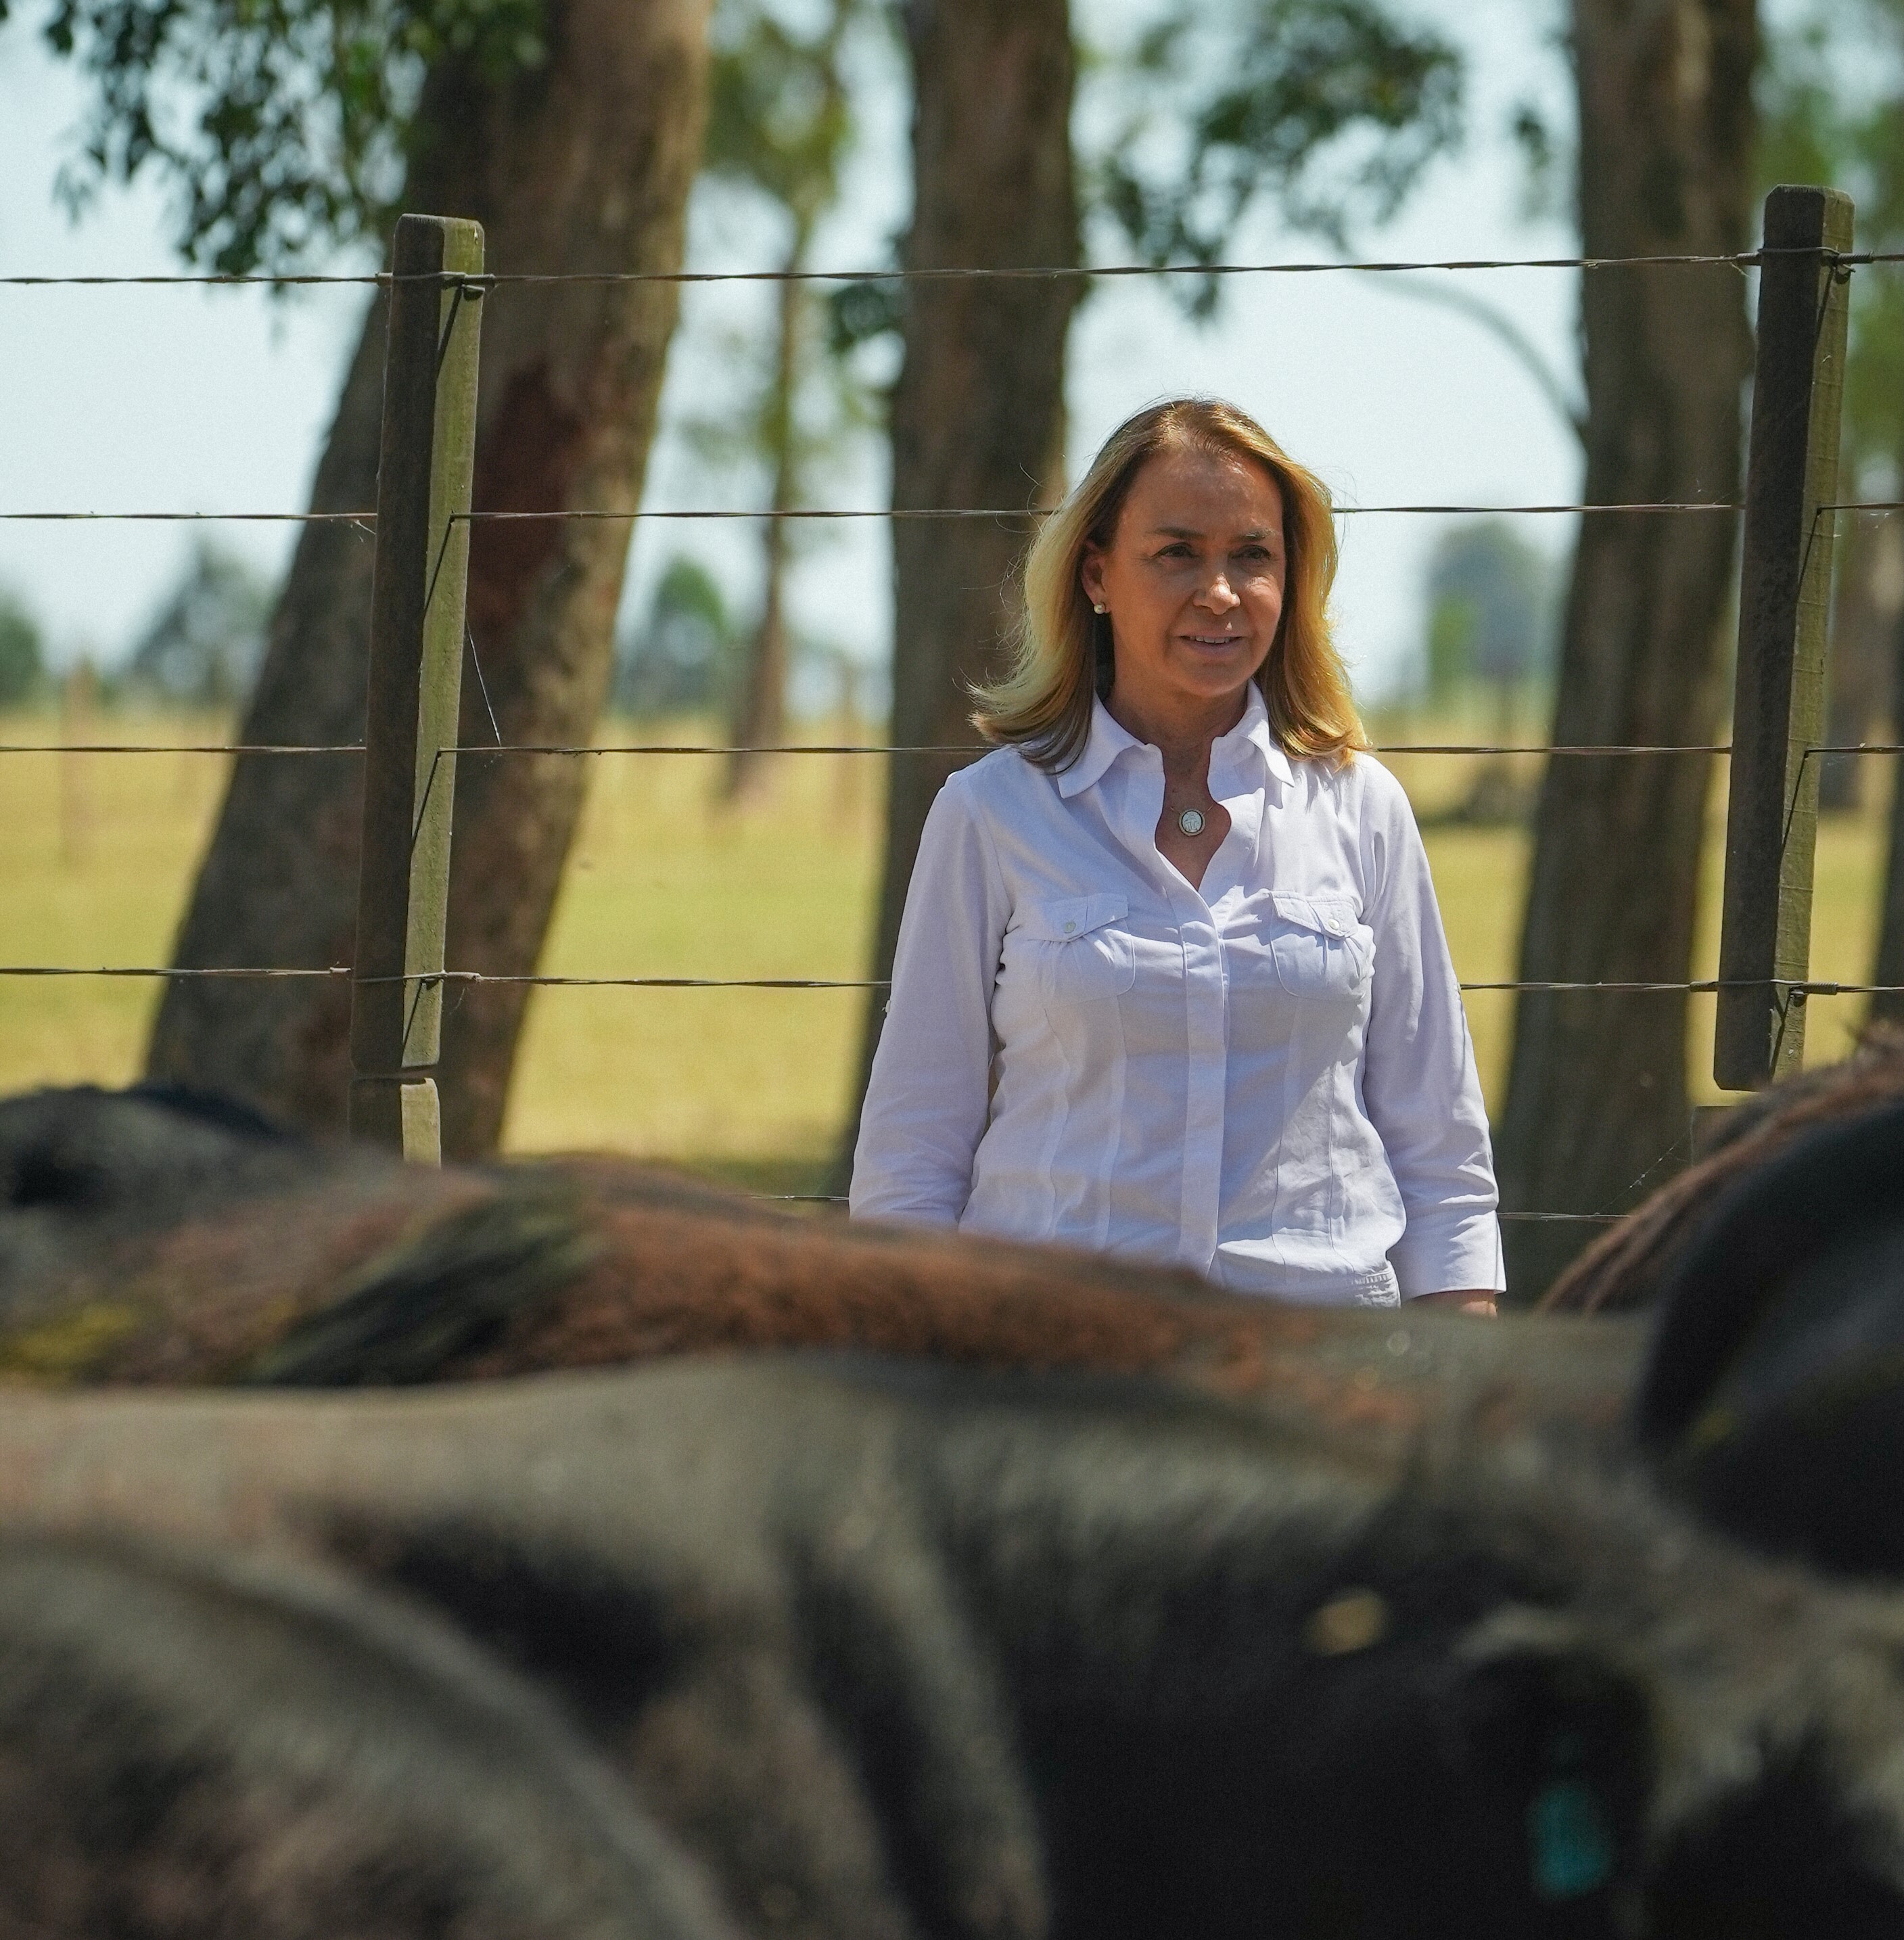
[[[1487,1114],[1427,856],[1369,755],[1289,760],[1256,685],[1229,834],[1158,852],[1163,759],[940,790],[905,898],[853,1216],[1179,1261],[1289,1300],[1501,1288]]]

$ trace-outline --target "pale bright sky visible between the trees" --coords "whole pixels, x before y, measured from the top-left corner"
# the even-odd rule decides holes
[[[1123,0],[1074,0],[1086,35],[1115,33]],[[1524,213],[1524,173],[1507,124],[1518,101],[1563,116],[1555,0],[1415,0],[1470,58],[1470,138],[1431,165],[1400,219],[1359,237],[1384,258],[1571,254],[1567,223]],[[0,27],[0,274],[140,275],[178,268],[155,186],[107,192],[70,221],[52,196],[83,107],[79,83],[45,52],[43,8]],[[865,134],[841,208],[820,239],[824,268],[876,266],[905,219],[905,101],[896,60],[865,70]],[[700,196],[690,262],[770,262],[772,233],[731,202]],[[1254,219],[1247,260],[1315,260],[1315,239]],[[361,270],[361,262],[339,262]],[[506,264],[491,268],[506,270]],[[1410,283],[1433,281],[1412,277]],[[1507,310],[1561,372],[1576,371],[1572,272],[1466,279]],[[6,289],[0,287],[0,512],[248,510],[306,502],[361,289]],[[746,504],[750,481],[719,475],[681,427],[731,382],[733,343],[766,328],[764,291],[690,289],[671,347],[663,433],[644,504]],[[1361,274],[1233,279],[1212,324],[1187,322],[1152,281],[1099,285],[1068,363],[1070,468],[1105,433],[1169,392],[1216,392],[1256,413],[1344,502],[1565,502],[1580,489],[1572,433],[1528,372],[1476,324],[1410,301],[1400,277]],[[822,495],[824,493],[824,495]],[[826,504],[886,501],[884,454],[865,438],[816,485]],[[1338,580],[1338,638],[1369,698],[1406,685],[1421,648],[1427,551],[1441,522],[1349,518]],[[1563,557],[1569,520],[1524,520]],[[289,526],[219,526],[221,543],[277,572]],[[0,586],[41,617],[52,654],[120,658],[188,559],[198,528],[0,522]],[[624,609],[636,611],[675,551],[704,557],[746,611],[756,598],[748,528],[638,530]],[[855,660],[882,662],[892,636],[884,524],[830,528],[793,588],[795,625]]]

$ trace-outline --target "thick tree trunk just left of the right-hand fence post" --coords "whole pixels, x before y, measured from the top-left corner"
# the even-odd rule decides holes
[[[1728,252],[1751,229],[1753,0],[1574,0],[1580,241],[1588,256]],[[1729,268],[1582,277],[1588,502],[1739,497],[1751,369]],[[1704,743],[1722,708],[1735,522],[1605,514],[1580,524],[1553,737]],[[1683,982],[1710,760],[1547,766],[1520,976]],[[1510,1211],[1602,1212],[1658,1183],[1687,1143],[1681,993],[1526,993],[1501,1131]],[[1508,1226],[1530,1300],[1590,1226]]]

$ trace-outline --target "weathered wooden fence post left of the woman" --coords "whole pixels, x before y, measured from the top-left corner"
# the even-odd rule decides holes
[[[438,1164],[456,712],[469,574],[483,229],[397,221],[365,708],[351,1135]]]

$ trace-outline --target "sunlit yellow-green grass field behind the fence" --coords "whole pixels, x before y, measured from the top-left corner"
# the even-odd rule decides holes
[[[112,716],[101,739],[215,741],[225,726]],[[1406,735],[1458,737],[1419,720]],[[0,741],[50,739],[58,733],[47,718],[0,718]],[[884,786],[874,757],[785,757],[768,803],[743,815],[715,809],[715,764],[702,757],[603,757],[591,766],[547,972],[865,976]],[[1460,757],[1412,757],[1396,768],[1425,813],[1468,778]],[[221,788],[215,757],[0,757],[0,960],[163,964]],[[1695,976],[1716,966],[1718,836],[1716,819]],[[1460,974],[1510,978],[1524,834],[1435,826],[1427,840]],[[1813,976],[1867,980],[1881,867],[1877,807],[1825,824]],[[0,1090],[126,1083],[157,991],[149,982],[0,978]],[[810,1189],[845,1110],[863,1005],[859,991],[537,991],[506,1143],[619,1148],[758,1189]],[[1470,997],[1495,1110],[1510,1005],[1501,993]],[[1859,1015],[1856,999],[1815,1001],[1809,1061],[1842,1055]],[[1689,1063],[1702,1098],[1716,1096],[1710,1036],[1712,999],[1695,997]]]

